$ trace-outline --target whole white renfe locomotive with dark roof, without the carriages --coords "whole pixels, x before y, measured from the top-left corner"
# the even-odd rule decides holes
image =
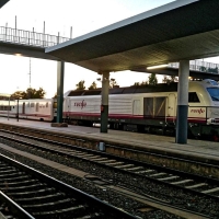
[[[120,88],[108,96],[108,125],[111,128],[145,131],[151,128],[175,128],[177,84],[158,84],[143,88]],[[159,91],[159,92],[155,92]],[[110,90],[111,91],[111,90]],[[138,93],[139,91],[139,93]],[[74,94],[76,93],[76,94]],[[91,92],[92,93],[92,92]],[[96,92],[97,93],[97,92]],[[120,93],[120,94],[119,94]],[[64,117],[81,124],[100,126],[101,91],[97,95],[69,92],[65,97]],[[72,96],[71,96],[72,95]],[[188,125],[195,135],[218,131],[219,85],[216,81],[191,81],[188,89]],[[197,127],[198,126],[198,127]],[[203,126],[207,128],[200,130]]]

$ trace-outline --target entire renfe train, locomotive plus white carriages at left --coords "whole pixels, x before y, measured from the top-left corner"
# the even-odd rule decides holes
[[[64,94],[64,122],[100,127],[101,89]],[[110,89],[108,128],[175,135],[177,82]],[[0,116],[55,122],[56,99],[0,100]],[[219,84],[189,81],[188,137],[219,139]]]

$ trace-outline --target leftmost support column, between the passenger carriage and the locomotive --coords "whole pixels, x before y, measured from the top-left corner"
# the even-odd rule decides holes
[[[57,123],[62,123],[65,62],[57,61]]]

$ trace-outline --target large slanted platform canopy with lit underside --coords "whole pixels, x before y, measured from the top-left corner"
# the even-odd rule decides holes
[[[219,55],[219,1],[177,0],[46,48],[64,61],[104,72]]]

